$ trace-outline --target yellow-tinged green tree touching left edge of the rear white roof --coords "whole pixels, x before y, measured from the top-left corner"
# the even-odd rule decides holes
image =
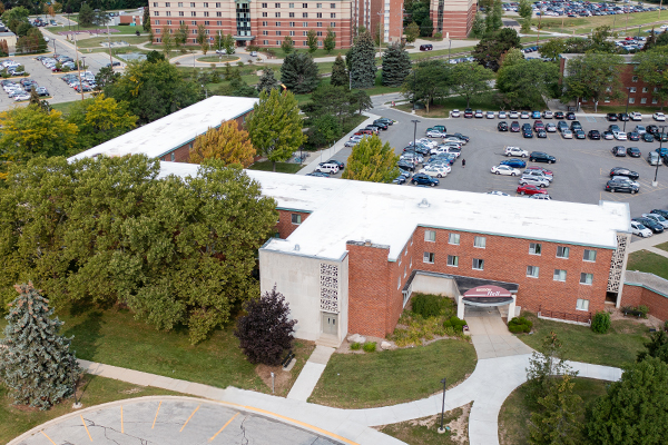
[[[67,117],[67,121],[79,129],[79,149],[97,146],[131,130],[137,127],[137,119],[128,111],[126,102],[117,102],[104,93],[72,103]]]

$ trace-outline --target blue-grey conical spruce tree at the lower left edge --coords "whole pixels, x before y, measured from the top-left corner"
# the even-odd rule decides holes
[[[75,394],[81,375],[71,338],[58,335],[62,322],[52,319],[49,300],[32,287],[16,285],[19,296],[9,305],[0,340],[0,377],[16,404],[47,409]]]

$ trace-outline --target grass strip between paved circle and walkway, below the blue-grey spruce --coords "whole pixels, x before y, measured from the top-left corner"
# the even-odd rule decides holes
[[[122,400],[126,398],[183,395],[167,389],[137,386],[125,382],[114,380],[99,376],[86,375],[84,385],[79,386],[78,396],[81,397],[84,407],[104,404],[107,402]],[[86,382],[89,382],[86,386]],[[52,418],[73,412],[73,399],[67,399],[49,411],[35,408],[17,408],[8,396],[8,390],[0,385],[0,443],[7,444],[12,438],[27,431],[43,424]]]

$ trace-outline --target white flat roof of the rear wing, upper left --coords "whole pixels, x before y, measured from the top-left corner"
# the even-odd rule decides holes
[[[209,128],[236,119],[250,111],[259,99],[230,96],[212,96],[183,110],[128,131],[117,138],[92,147],[69,159],[107,156],[146,155],[159,158],[194,140]]]

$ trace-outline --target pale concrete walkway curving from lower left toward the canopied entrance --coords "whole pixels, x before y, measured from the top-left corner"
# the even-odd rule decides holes
[[[498,322],[501,323],[500,318]],[[472,323],[472,325],[475,326],[475,323]],[[472,336],[485,335],[485,333],[480,332],[472,332],[471,334]],[[502,340],[504,344],[512,344],[515,340],[520,342],[510,333],[504,335],[514,338],[514,340],[504,338]],[[475,344],[477,342],[474,342],[474,346]],[[469,418],[469,442],[471,445],[499,444],[499,411],[510,393],[527,380],[525,368],[529,365],[530,357],[530,354],[519,354],[480,359],[466,380],[448,390],[445,395],[446,411],[473,402]],[[307,429],[311,428],[323,436],[337,437],[336,442],[347,444],[401,444],[401,441],[384,435],[371,428],[371,426],[410,421],[441,412],[442,394],[434,394],[421,400],[379,408],[340,409],[235,387],[222,389],[116,366],[87,360],[79,362],[89,374],[234,404],[238,409],[261,413],[266,417],[279,422],[287,422],[299,427],[306,427]],[[621,377],[621,369],[619,368],[577,362],[569,362],[569,365],[578,370],[581,377],[605,380],[618,380]],[[124,404],[128,402],[124,402]],[[71,415],[55,419],[52,423],[66,422],[69,416]],[[37,427],[10,442],[10,445],[22,444],[23,442],[20,441],[40,434],[40,428],[46,427],[45,425]],[[129,444],[131,442],[122,443]]]

